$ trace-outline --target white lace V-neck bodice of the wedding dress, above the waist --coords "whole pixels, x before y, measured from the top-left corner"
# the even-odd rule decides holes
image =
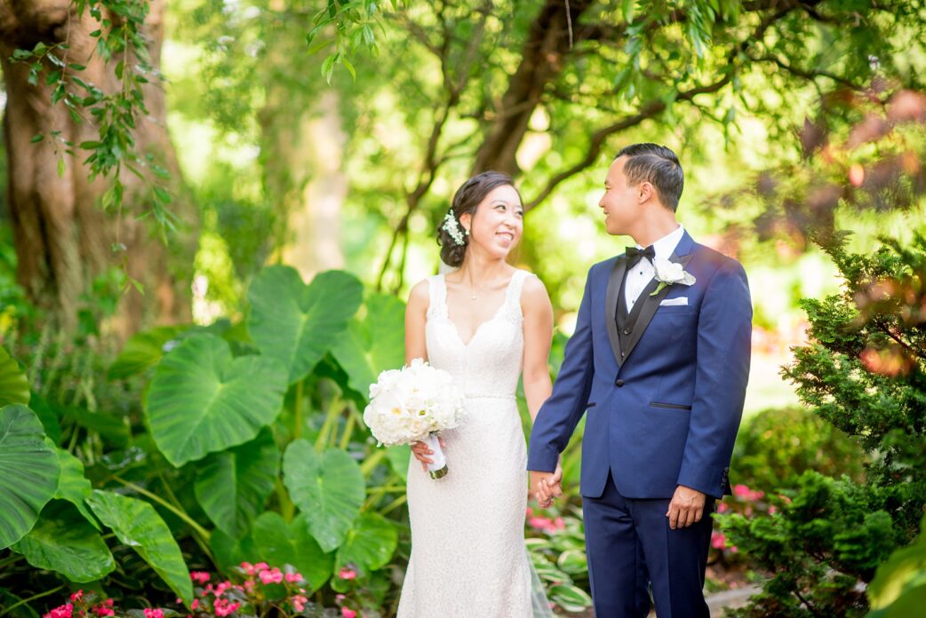
[[[515,271],[504,303],[495,315],[482,322],[467,344],[450,321],[444,275],[428,278],[428,361],[453,376],[467,396],[514,398],[524,361],[520,291],[524,279],[532,276],[524,270]]]

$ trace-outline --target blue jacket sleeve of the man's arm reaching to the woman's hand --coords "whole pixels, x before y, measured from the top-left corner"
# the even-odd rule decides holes
[[[585,414],[594,377],[591,280],[592,271],[589,270],[576,329],[566,343],[553,392],[534,419],[527,464],[529,470],[556,470],[559,453],[566,449],[572,432]]]

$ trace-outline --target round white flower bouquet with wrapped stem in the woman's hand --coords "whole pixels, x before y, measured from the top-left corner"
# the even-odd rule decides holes
[[[432,478],[447,474],[447,461],[437,434],[463,420],[463,393],[450,374],[420,358],[401,369],[383,371],[369,385],[369,405],[363,422],[381,445],[422,441],[434,451],[428,472]]]

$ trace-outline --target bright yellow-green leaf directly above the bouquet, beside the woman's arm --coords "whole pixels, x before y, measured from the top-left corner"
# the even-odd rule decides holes
[[[332,354],[350,377],[350,387],[368,396],[381,371],[405,364],[405,303],[371,294],[363,319],[354,317],[347,333],[332,344]]]

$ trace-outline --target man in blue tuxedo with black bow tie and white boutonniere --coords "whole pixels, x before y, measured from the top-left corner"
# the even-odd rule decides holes
[[[608,234],[637,241],[592,266],[528,468],[560,495],[559,453],[582,414],[582,511],[597,618],[708,616],[714,501],[728,472],[749,374],[752,307],[738,262],[675,219],[684,176],[669,148],[621,150],[598,204]]]

